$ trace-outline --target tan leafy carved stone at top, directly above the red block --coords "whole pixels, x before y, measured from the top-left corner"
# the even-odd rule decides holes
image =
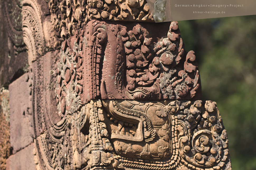
[[[49,9],[56,37],[61,40],[91,20],[154,22],[146,0],[50,0]]]

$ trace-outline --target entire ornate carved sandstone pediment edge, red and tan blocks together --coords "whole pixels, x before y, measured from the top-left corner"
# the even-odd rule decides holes
[[[194,52],[178,22],[154,23],[165,3],[22,2],[37,169],[231,169]]]

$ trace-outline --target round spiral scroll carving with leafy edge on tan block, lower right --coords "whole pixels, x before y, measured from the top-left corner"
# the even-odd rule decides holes
[[[179,132],[183,134],[179,139],[181,157],[191,167],[218,169],[224,166],[228,155],[226,130],[215,102],[206,101],[205,110],[198,106],[185,109],[187,121],[179,121]],[[191,126],[196,120],[198,124]]]

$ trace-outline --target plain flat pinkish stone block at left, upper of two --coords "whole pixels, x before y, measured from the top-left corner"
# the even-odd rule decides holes
[[[10,141],[13,153],[33,142],[32,77],[26,73],[9,85]]]

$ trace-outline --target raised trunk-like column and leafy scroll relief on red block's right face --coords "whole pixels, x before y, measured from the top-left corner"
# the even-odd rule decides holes
[[[201,98],[195,55],[184,50],[177,22],[171,23],[167,38],[155,43],[139,24],[128,30],[91,21],[86,30],[84,74],[93,74],[84,84],[89,89],[84,90],[84,102],[99,98],[99,93],[102,99]],[[88,65],[90,69],[85,67]]]

